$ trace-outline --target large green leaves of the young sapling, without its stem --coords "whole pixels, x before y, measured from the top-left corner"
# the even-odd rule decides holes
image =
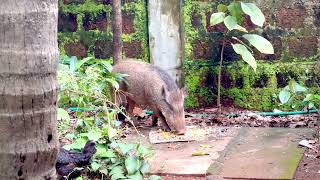
[[[232,2],[229,6],[220,4],[218,6],[218,11],[219,12],[212,14],[210,23],[212,26],[214,26],[223,22],[227,27],[227,31],[224,32],[225,37],[228,37],[228,34],[233,30],[237,30],[243,33],[248,32],[247,29],[240,25],[241,23],[243,23],[244,15],[250,16],[251,21],[259,27],[262,27],[265,22],[265,17],[262,14],[261,10],[253,3]],[[238,40],[238,38],[234,36],[231,36],[231,38]],[[247,40],[258,51],[265,54],[274,54],[272,44],[264,37],[257,34],[243,34],[242,38]],[[248,55],[249,53],[251,54],[251,52],[248,50],[248,48],[246,48],[248,47],[248,45],[246,45],[243,41],[238,41],[238,43],[231,43],[231,45],[234,51],[242,56],[242,59],[244,61],[255,61],[252,55]],[[255,64],[256,63],[249,63],[249,65],[254,70],[256,69]]]

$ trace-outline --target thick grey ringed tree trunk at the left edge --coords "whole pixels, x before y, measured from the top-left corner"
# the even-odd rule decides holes
[[[0,0],[0,179],[54,179],[58,0]]]

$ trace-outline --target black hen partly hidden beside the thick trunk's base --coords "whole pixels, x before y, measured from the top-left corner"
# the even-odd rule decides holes
[[[56,163],[56,170],[60,180],[64,177],[76,178],[81,172],[76,167],[83,167],[91,163],[91,157],[96,153],[96,143],[88,141],[82,152],[73,152],[61,148]]]

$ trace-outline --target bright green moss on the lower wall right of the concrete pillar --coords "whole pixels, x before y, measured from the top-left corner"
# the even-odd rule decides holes
[[[217,76],[217,66],[205,65],[201,61],[188,61],[185,65],[186,85],[191,96],[187,98],[186,107],[193,108],[205,104],[214,104],[216,89],[206,87],[203,82],[211,72],[215,78]],[[242,61],[237,61],[223,69],[231,82],[230,88],[222,88],[223,98],[232,99],[234,105],[242,108],[270,111],[278,107],[278,88],[277,74],[291,72],[299,82],[304,82],[308,77],[309,69],[314,63],[267,63],[258,61],[257,72]],[[286,81],[289,81],[289,77]],[[242,81],[239,81],[241,79]],[[216,82],[216,81],[214,81]],[[286,84],[286,82],[285,82]],[[216,87],[216,84],[210,84]],[[311,88],[310,92],[317,91],[318,88]],[[319,90],[318,90],[319,91]],[[222,99],[223,99],[222,98]]]

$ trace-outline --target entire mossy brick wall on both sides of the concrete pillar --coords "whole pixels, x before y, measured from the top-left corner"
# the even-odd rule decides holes
[[[215,104],[220,26],[209,24],[218,3],[232,0],[184,0],[185,82],[187,107]],[[146,0],[122,0],[123,54],[149,60]],[[222,73],[223,103],[271,110],[276,94],[293,78],[313,91],[320,91],[320,3],[319,0],[257,0],[266,15],[262,35],[269,39],[275,55],[256,53],[257,73],[235,61],[231,47],[225,50]],[[79,58],[112,56],[111,0],[59,0],[59,48],[61,54]],[[244,26],[254,29],[249,18]]]

